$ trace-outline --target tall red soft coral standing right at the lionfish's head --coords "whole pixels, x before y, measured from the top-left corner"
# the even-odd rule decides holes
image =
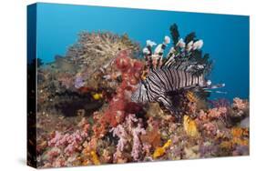
[[[128,114],[136,114],[141,110],[141,107],[131,103],[129,99],[131,93],[136,89],[143,69],[143,64],[140,61],[129,58],[127,50],[119,52],[114,64],[121,72],[122,82],[101,118],[103,126],[110,125],[112,127],[118,126],[119,123],[123,122]]]

